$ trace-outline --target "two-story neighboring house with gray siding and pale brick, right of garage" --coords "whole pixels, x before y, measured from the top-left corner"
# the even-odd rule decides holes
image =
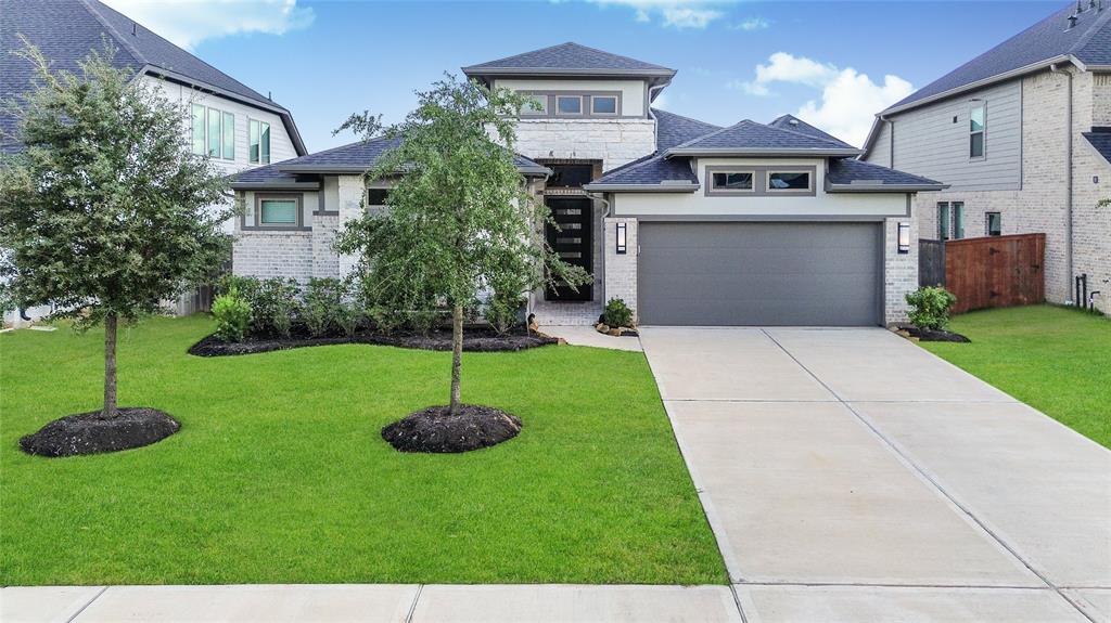
[[[949,184],[923,238],[1045,234],[1045,295],[1111,312],[1111,2],[1070,2],[877,115],[863,160]]]

